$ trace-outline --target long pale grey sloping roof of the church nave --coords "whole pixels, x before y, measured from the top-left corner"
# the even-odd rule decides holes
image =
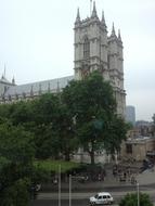
[[[44,80],[44,81],[37,81],[33,83],[26,83],[21,86],[10,87],[5,92],[5,96],[8,95],[22,95],[23,93],[38,93],[41,90],[42,93],[47,92],[48,90],[54,92],[57,89],[63,89],[67,86],[68,81],[73,80],[74,76],[62,77],[57,79]]]

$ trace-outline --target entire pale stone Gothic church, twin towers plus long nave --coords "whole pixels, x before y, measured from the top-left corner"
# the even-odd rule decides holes
[[[57,92],[73,79],[81,79],[92,70],[100,70],[105,80],[109,80],[117,102],[117,114],[125,116],[126,92],[124,90],[124,56],[120,31],[107,36],[107,27],[102,13],[98,17],[95,2],[90,17],[80,20],[79,9],[75,21],[75,66],[74,75],[26,85],[15,85],[14,78],[8,81],[4,75],[0,79],[0,103],[12,103],[34,99],[47,92]]]

